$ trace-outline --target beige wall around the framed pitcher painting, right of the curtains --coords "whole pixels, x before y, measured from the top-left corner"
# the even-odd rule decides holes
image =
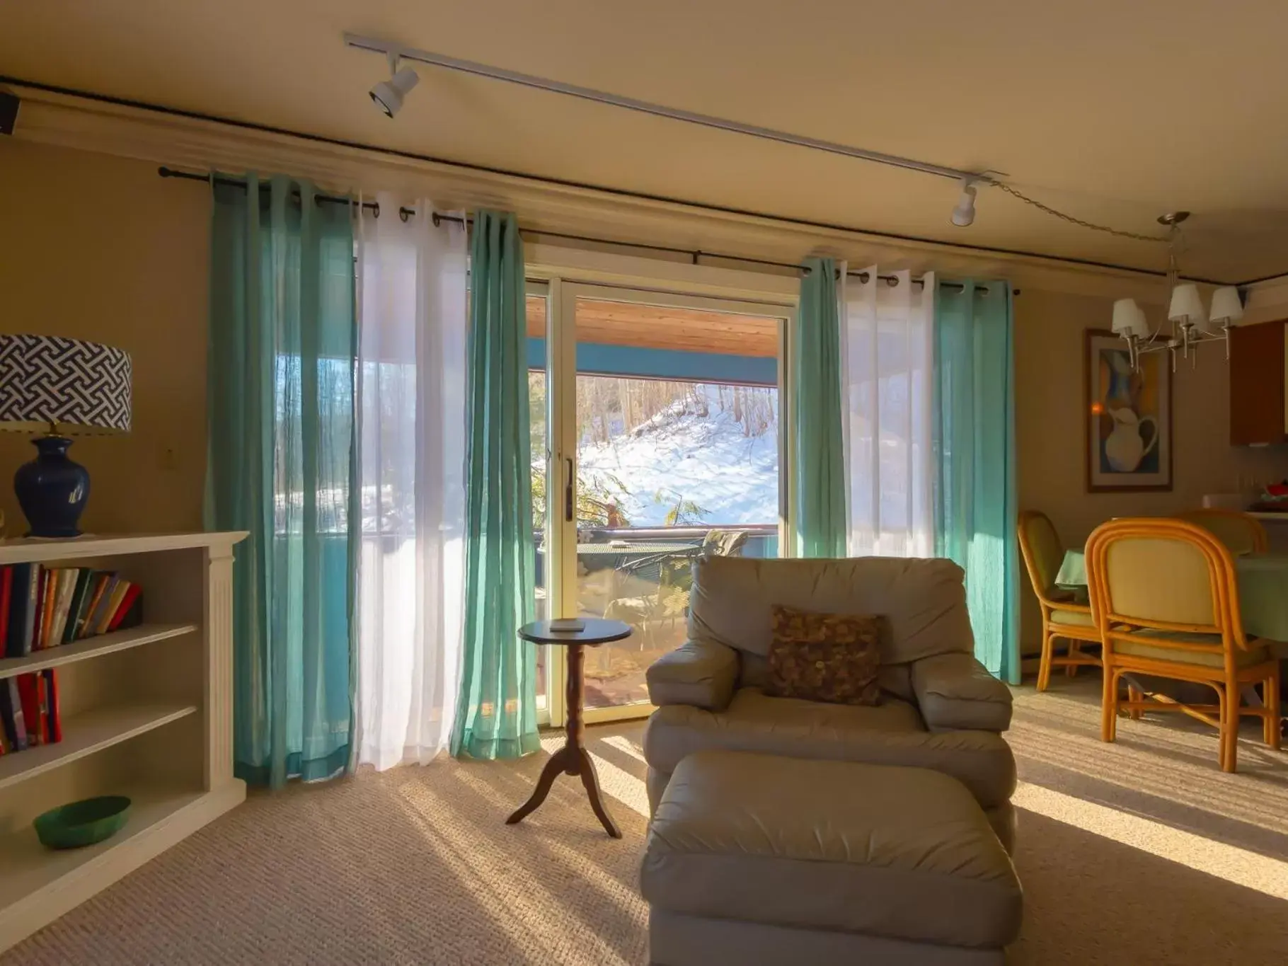
[[[1024,289],[1015,300],[1015,435],[1020,509],[1042,510],[1069,546],[1110,516],[1199,506],[1204,493],[1236,492],[1288,477],[1288,447],[1230,446],[1229,368],[1218,346],[1172,380],[1172,491],[1088,493],[1083,461],[1083,331],[1108,328],[1112,300]],[[1024,580],[1021,640],[1041,639],[1037,600]]]

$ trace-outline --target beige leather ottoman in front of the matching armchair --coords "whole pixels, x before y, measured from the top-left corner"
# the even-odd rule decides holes
[[[676,766],[640,887],[656,966],[998,966],[1023,904],[956,779],[733,751]]]

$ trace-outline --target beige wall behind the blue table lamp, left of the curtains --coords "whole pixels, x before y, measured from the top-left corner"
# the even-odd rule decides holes
[[[81,527],[201,528],[209,196],[156,165],[0,138],[0,331],[90,339],[134,361],[134,429],[76,440]],[[13,473],[35,456],[0,433],[0,509],[26,531]]]

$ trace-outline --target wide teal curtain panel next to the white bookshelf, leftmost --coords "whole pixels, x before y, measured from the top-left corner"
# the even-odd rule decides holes
[[[233,567],[233,756],[279,787],[345,772],[359,520],[349,205],[307,182],[215,183],[206,526]]]

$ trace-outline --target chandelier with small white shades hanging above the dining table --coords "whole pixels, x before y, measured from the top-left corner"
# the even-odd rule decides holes
[[[1114,332],[1127,341],[1133,372],[1140,372],[1140,359],[1145,353],[1166,352],[1172,358],[1172,372],[1176,371],[1176,357],[1189,359],[1193,368],[1198,362],[1198,346],[1204,343],[1225,343],[1225,358],[1230,358],[1230,328],[1243,318],[1243,300],[1233,285],[1212,292],[1212,308],[1203,310],[1199,287],[1191,282],[1179,283],[1176,269],[1176,246],[1181,237],[1181,223],[1190,216],[1189,211],[1175,211],[1162,215],[1159,224],[1171,231],[1167,238],[1167,290],[1171,298],[1167,303],[1167,331],[1163,326],[1150,330],[1145,321],[1145,310],[1135,299],[1119,299],[1114,303]]]

